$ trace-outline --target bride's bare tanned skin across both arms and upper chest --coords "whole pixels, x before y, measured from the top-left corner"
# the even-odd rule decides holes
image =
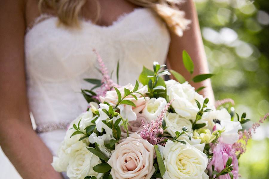
[[[60,179],[62,176],[51,166],[51,152],[32,129],[26,95],[24,36],[26,28],[31,27],[34,19],[40,15],[37,2],[0,1],[0,145],[23,178]],[[105,26],[136,7],[124,0],[99,2],[101,18],[97,24]],[[87,1],[82,8],[82,16],[94,19],[94,7],[93,1]],[[192,24],[183,37],[171,33],[167,63],[189,80],[191,76],[182,64],[182,50],[187,50],[194,61],[194,75],[207,73],[208,69],[194,4],[186,1],[181,9],[185,10]],[[46,12],[53,13],[50,10]],[[204,94],[213,99],[210,81],[194,84],[196,88],[201,85],[207,86]]]

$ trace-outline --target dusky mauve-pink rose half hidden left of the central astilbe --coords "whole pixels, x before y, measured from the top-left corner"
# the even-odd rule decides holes
[[[129,121],[129,125],[128,125],[129,135],[131,135],[134,132],[136,132],[137,134],[140,134],[140,132],[143,129],[142,121],[144,121],[145,125],[149,124],[149,121],[147,120],[147,118],[140,113],[136,115],[135,121]],[[127,132],[124,126],[120,126],[120,130],[121,130],[121,136],[124,138],[127,138]]]

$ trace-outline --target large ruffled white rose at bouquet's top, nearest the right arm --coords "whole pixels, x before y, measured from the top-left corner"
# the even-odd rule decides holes
[[[199,112],[195,99],[202,105],[203,96],[199,95],[187,81],[183,84],[172,85],[168,92],[169,100],[175,99],[172,103],[175,112],[181,117],[195,120],[195,116]]]

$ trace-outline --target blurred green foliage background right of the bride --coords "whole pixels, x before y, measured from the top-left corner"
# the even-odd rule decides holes
[[[195,0],[215,99],[232,98],[252,122],[269,112],[269,0]],[[269,123],[239,158],[242,179],[269,178]]]

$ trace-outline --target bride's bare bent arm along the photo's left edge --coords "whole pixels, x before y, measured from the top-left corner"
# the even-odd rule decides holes
[[[0,145],[23,178],[62,178],[33,131],[24,67],[24,2],[0,1]]]

